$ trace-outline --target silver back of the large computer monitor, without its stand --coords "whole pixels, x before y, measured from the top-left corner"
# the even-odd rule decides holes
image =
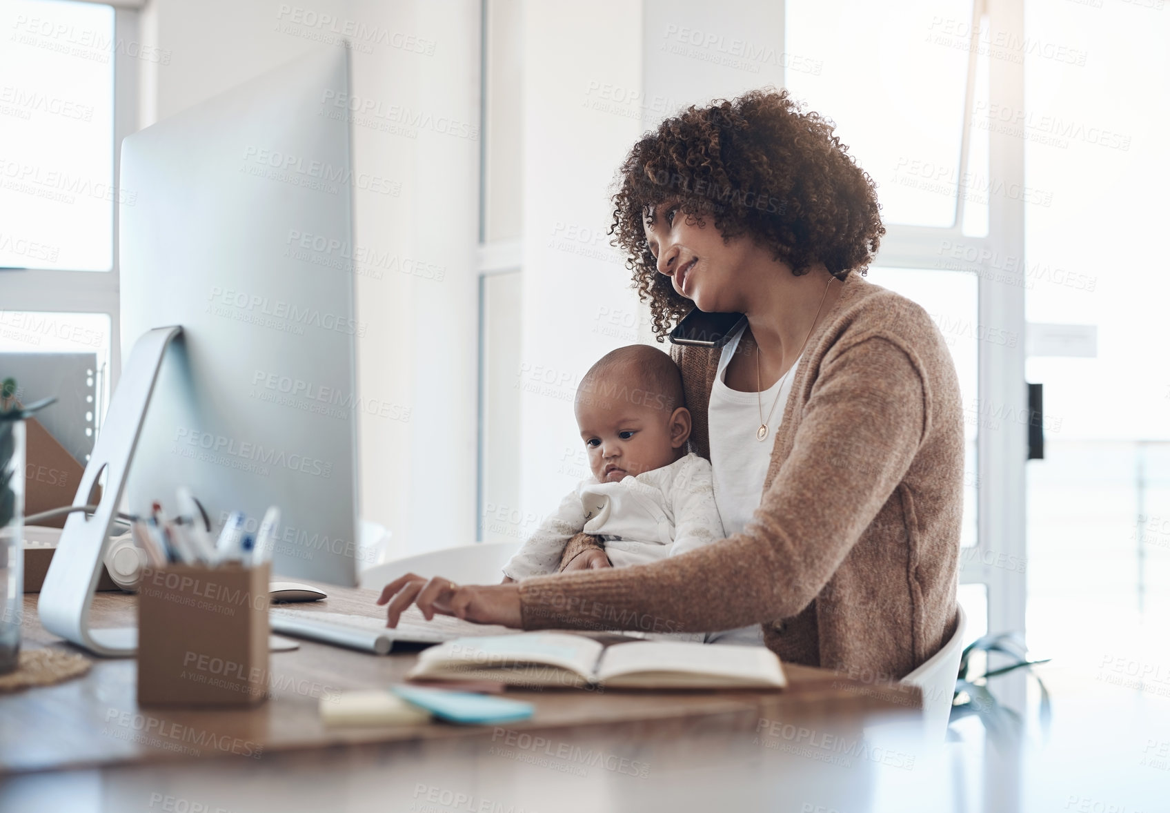
[[[181,325],[126,482],[190,487],[218,532],[269,505],[273,571],[357,584],[352,190],[344,48],[296,60],[126,138],[122,347]],[[345,96],[343,96],[345,95]]]

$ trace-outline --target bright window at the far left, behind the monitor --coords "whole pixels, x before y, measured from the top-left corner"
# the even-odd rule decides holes
[[[0,352],[96,352],[99,426],[119,368],[117,144],[136,129],[137,13],[0,11]],[[121,92],[121,91],[119,91]]]

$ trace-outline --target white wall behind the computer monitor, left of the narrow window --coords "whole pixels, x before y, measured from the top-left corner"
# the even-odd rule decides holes
[[[359,263],[358,388],[392,415],[410,409],[359,420],[362,514],[406,553],[475,533],[480,4],[152,0],[144,39],[171,58],[144,66],[140,109],[150,124],[337,47],[322,37],[346,25],[374,35],[353,37],[352,92],[385,113],[355,124],[355,168],[401,182],[398,197],[356,191],[356,247],[391,257]]]

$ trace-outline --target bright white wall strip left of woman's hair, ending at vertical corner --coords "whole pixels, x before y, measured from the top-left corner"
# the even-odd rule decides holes
[[[608,186],[640,132],[613,89],[641,89],[640,4],[524,6],[524,236],[521,368],[522,531],[589,474],[572,400],[607,351],[638,342],[629,271],[608,247]],[[620,22],[619,22],[620,21]],[[596,106],[594,106],[596,105]],[[612,326],[612,335],[603,329]]]

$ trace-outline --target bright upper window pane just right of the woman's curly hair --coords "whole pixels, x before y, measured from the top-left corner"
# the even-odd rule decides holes
[[[958,222],[985,233],[986,198],[979,187],[987,178],[986,132],[963,126],[970,119],[969,81],[977,83],[977,94],[986,94],[986,66],[973,64],[985,57],[971,47],[971,0],[895,7],[790,0],[785,8],[785,85],[833,118],[851,154],[878,182],[886,223]],[[806,64],[815,69],[800,69]],[[985,109],[977,98],[971,102]],[[978,149],[964,149],[971,136]],[[971,222],[964,218],[968,209],[975,214]]]

